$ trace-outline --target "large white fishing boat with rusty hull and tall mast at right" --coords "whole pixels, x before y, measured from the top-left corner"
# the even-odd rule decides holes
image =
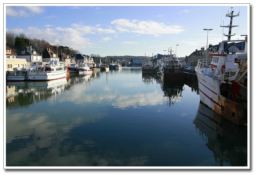
[[[226,15],[230,25],[221,27],[229,27],[228,40],[210,53],[212,59],[198,60],[195,72],[200,101],[233,123],[247,125],[247,35],[244,40],[231,40],[236,16],[232,9]]]

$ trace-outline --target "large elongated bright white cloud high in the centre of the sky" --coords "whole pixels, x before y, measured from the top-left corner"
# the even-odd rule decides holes
[[[129,19],[116,19],[111,21],[112,25],[119,32],[138,33],[138,34],[177,34],[184,29],[182,26],[170,25],[166,26],[163,22],[155,21],[138,21]]]

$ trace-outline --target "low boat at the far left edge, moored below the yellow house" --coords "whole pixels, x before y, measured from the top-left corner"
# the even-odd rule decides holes
[[[7,74],[6,80],[7,81],[26,81],[28,80],[28,72],[36,70],[36,67],[30,68],[22,68],[18,69],[17,67],[13,68],[13,74]]]

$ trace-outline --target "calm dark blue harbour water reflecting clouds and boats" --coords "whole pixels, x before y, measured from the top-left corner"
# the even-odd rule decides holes
[[[7,82],[6,166],[247,166],[247,128],[202,105],[195,77]]]

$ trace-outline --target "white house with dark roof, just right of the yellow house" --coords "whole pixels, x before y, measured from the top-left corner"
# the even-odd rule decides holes
[[[23,50],[18,52],[17,58],[26,59],[28,62],[28,65],[31,65],[33,63],[42,62],[42,56],[38,54],[31,46],[25,47]]]

